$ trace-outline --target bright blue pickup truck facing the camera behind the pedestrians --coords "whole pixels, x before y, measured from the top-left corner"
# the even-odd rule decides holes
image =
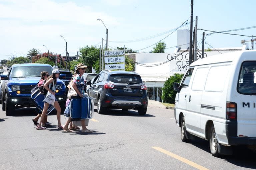
[[[52,66],[49,64],[13,64],[7,75],[1,75],[1,103],[2,110],[6,116],[15,114],[15,109],[24,107],[35,107],[29,101],[32,88],[39,82],[41,72],[52,73]],[[57,79],[56,98],[60,104],[62,112],[65,110],[66,86],[62,80]]]

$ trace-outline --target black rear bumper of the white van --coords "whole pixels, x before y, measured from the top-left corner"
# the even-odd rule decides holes
[[[256,137],[238,137],[237,121],[226,121],[226,134],[230,145],[256,145]]]

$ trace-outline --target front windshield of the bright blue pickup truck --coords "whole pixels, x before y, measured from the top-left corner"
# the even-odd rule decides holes
[[[47,71],[49,74],[52,73],[52,67],[50,66],[18,66],[13,67],[11,70],[12,78],[15,77],[41,77],[42,71]]]

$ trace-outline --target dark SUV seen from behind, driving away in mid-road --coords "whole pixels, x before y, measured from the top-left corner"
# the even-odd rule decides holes
[[[147,87],[136,72],[101,71],[90,85],[88,95],[94,98],[99,114],[109,109],[138,110],[139,115],[147,112]]]

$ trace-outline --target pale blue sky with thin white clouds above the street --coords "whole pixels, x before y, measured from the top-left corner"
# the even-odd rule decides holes
[[[218,32],[252,27],[256,26],[255,7],[255,0],[194,0],[193,20],[198,16],[199,29]],[[190,14],[190,0],[0,0],[0,60],[24,56],[32,48],[42,53],[48,48],[65,56],[66,42],[70,56],[74,56],[86,45],[101,45],[102,38],[105,45],[105,26],[108,48],[125,45],[137,52],[149,52],[162,41],[166,43],[165,52],[173,52],[177,31],[171,30],[186,20],[190,22]],[[179,29],[189,30],[190,24]],[[202,32],[197,33],[199,48]],[[256,28],[229,33],[252,36],[256,35]],[[206,36],[205,48],[240,47],[241,40],[251,39],[212,34]]]

